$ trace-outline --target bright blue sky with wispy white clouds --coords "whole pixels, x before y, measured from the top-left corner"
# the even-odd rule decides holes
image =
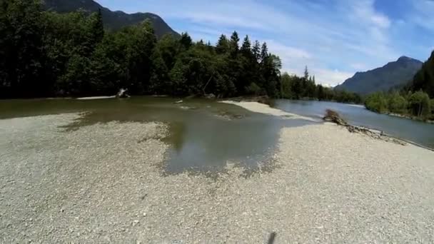
[[[266,41],[283,70],[335,86],[400,56],[434,49],[434,0],[97,0],[111,10],[158,14],[175,31],[216,44],[221,34]],[[240,44],[241,45],[241,44]]]

